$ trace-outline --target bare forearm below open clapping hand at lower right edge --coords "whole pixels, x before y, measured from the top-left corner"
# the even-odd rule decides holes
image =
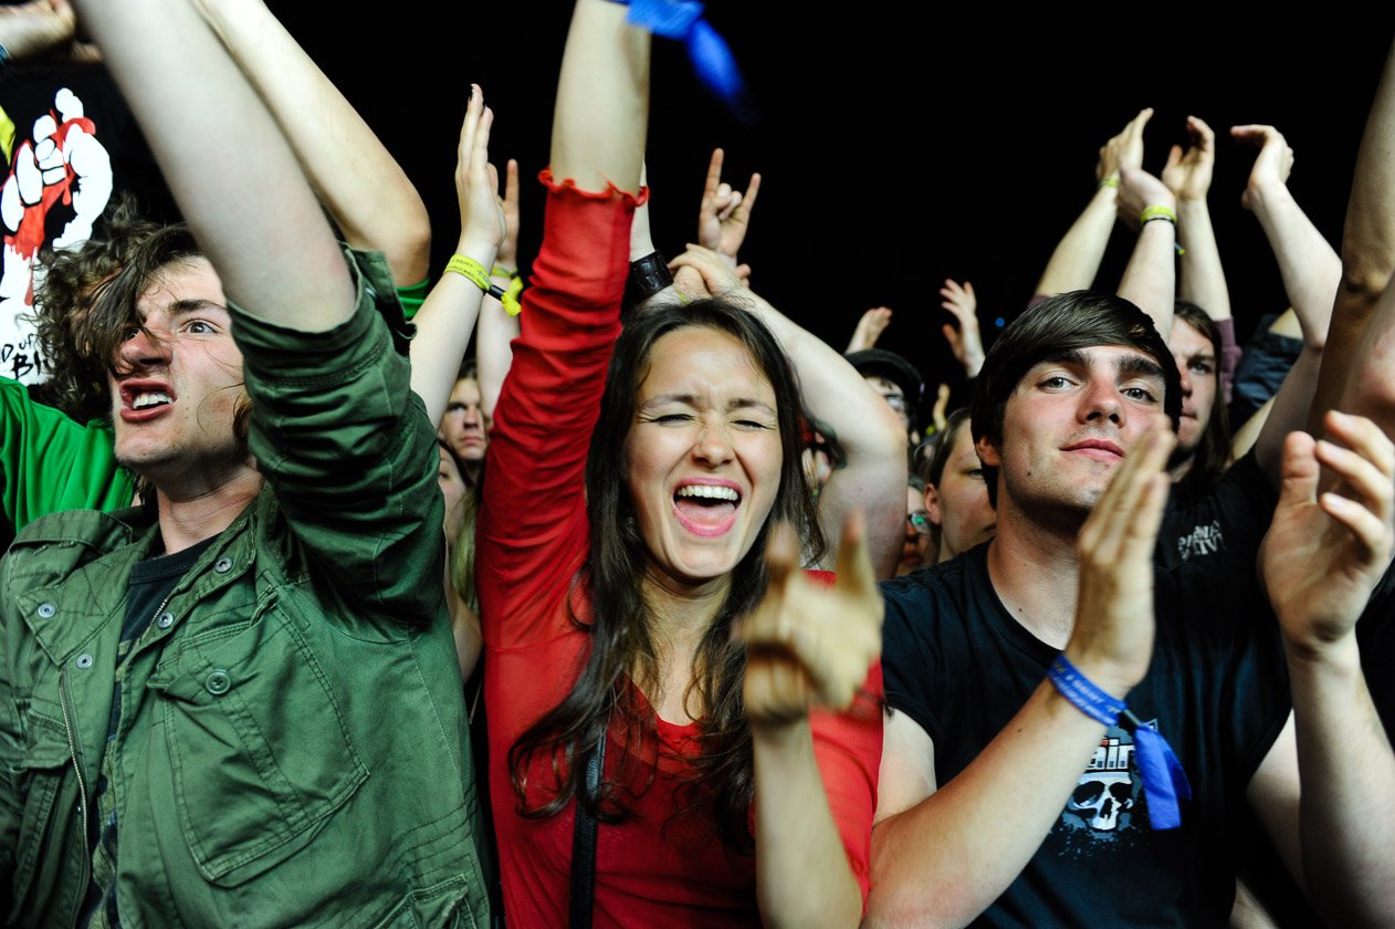
[[[1395,923],[1395,753],[1355,632],[1321,657],[1289,649],[1299,837],[1309,894],[1329,925]]]

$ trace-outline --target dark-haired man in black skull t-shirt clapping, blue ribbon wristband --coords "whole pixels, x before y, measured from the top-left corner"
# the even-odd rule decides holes
[[[1395,756],[1350,657],[1395,537],[1395,453],[1352,417],[1328,421],[1321,451],[1289,439],[1264,565],[1276,626],[1247,576],[1154,575],[1172,441],[1159,411],[1175,423],[1177,406],[1166,345],[1117,297],[1055,297],[989,353],[972,428],[997,537],[884,587],[872,925],[1223,925],[1244,802],[1296,872],[1364,862],[1335,875],[1329,918],[1384,904],[1395,816],[1350,801],[1395,791]],[[1318,460],[1348,478],[1345,508],[1314,505]],[[1077,709],[1046,679],[1057,653],[1137,723]],[[1191,778],[1180,829],[1154,827],[1141,724]]]

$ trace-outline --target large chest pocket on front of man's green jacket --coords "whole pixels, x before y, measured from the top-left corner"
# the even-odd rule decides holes
[[[187,646],[176,667],[151,681],[174,806],[202,876],[233,887],[308,845],[368,770],[306,630],[282,611]]]

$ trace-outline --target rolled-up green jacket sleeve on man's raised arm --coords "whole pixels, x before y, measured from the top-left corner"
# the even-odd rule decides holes
[[[346,254],[359,304],[328,332],[232,307],[248,448],[317,580],[356,611],[423,625],[444,608],[435,430],[412,392],[412,328],[386,262]]]

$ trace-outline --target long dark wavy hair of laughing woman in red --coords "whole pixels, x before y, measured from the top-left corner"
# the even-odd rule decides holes
[[[727,600],[703,633],[693,658],[693,678],[686,697],[702,707],[700,750],[682,776],[691,802],[709,809],[716,831],[732,851],[751,854],[749,810],[755,796],[751,725],[742,700],[746,651],[732,642],[732,624],[755,610],[769,580],[764,548],[776,520],[791,523],[805,547],[805,557],[823,554],[813,495],[799,459],[801,395],[795,371],[770,331],[731,300],[698,300],[688,305],[650,307],[635,314],[615,342],[600,420],[586,460],[586,509],[591,526],[590,551],[578,572],[576,586],[590,603],[578,628],[591,636],[586,667],[562,702],[543,716],[509,749],[509,770],[523,816],[543,819],[562,812],[573,796],[601,819],[617,822],[628,815],[621,794],[631,798],[653,783],[658,764],[657,718],[635,683],[658,679],[658,654],[650,614],[640,593],[649,548],[640,536],[625,467],[625,438],[635,421],[635,399],[649,374],[654,345],[678,329],[704,328],[741,342],[756,368],[774,388],[776,417],[784,460],[774,505],[755,544],[731,572]],[[572,601],[575,603],[575,600]],[[585,759],[607,731],[624,746],[612,780],[596,796],[580,787]],[[529,763],[551,757],[555,794],[530,803]],[[543,785],[543,790],[551,790]]]

